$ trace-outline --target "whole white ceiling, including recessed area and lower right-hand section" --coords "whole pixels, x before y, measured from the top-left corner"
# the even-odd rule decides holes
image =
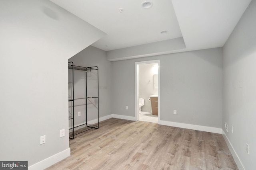
[[[191,50],[222,47],[251,2],[149,0],[153,6],[144,9],[144,0],[51,1],[104,31],[107,35],[92,44],[104,51],[178,37]]]

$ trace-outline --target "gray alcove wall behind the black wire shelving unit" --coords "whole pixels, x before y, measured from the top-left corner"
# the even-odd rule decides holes
[[[99,117],[112,114],[111,110],[111,61],[106,59],[106,51],[98,49],[96,47],[89,46],[80,53],[74,55],[68,61],[72,61],[74,65],[90,67],[98,66],[99,68]],[[74,72],[74,96],[75,98],[85,97],[85,79],[84,72],[75,71]],[[90,82],[88,81],[88,93],[96,95],[95,88],[89,87]],[[94,86],[94,85],[93,85]],[[95,87],[95,86],[94,86]],[[97,101],[95,101],[97,102]],[[93,103],[95,103],[93,101]],[[76,100],[75,101],[75,125],[83,123],[85,119],[85,100]],[[80,105],[80,106],[78,106]],[[82,105],[82,106],[81,106]],[[96,119],[95,113],[97,110],[92,105],[88,105],[88,121]],[[81,116],[77,117],[78,111],[81,111]]]

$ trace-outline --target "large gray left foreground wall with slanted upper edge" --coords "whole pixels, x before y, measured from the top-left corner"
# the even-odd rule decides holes
[[[68,58],[103,34],[48,0],[2,0],[0,16],[0,160],[31,166],[68,150]]]

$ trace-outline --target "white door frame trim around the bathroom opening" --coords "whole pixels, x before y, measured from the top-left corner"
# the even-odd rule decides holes
[[[160,123],[160,60],[135,62],[135,120],[139,120],[139,65],[140,64],[158,64],[158,124]]]

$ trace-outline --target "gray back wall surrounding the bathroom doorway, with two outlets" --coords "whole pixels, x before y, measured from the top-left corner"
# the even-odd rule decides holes
[[[135,62],[157,59],[160,119],[222,127],[222,48],[114,61],[112,113],[135,116]]]

